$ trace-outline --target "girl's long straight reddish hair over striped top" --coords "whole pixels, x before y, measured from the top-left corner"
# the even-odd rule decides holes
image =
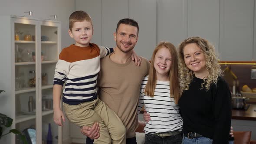
[[[179,93],[179,79],[178,79],[178,56],[175,46],[169,42],[160,42],[154,49],[151,64],[149,69],[148,83],[146,84],[144,93],[151,97],[154,96],[154,90],[156,87],[156,70],[154,68],[154,58],[159,49],[167,48],[171,53],[171,69],[169,72],[168,79],[170,79],[170,97],[174,97],[175,104],[178,104],[180,98]]]

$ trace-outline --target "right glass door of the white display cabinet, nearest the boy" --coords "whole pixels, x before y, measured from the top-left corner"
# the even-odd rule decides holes
[[[59,54],[58,27],[51,22],[41,26],[41,52],[42,139],[58,144],[58,125],[53,121],[53,78]]]

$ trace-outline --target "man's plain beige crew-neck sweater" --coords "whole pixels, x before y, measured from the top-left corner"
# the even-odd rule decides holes
[[[101,59],[99,98],[121,118],[127,130],[126,138],[135,137],[141,81],[148,74],[150,63],[142,58],[141,66],[131,60],[117,64],[109,56]]]

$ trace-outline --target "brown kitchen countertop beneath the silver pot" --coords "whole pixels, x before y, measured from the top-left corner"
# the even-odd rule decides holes
[[[250,104],[248,110],[232,109],[232,119],[256,121],[256,105]]]

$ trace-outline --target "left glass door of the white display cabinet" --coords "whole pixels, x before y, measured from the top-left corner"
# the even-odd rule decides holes
[[[32,141],[36,142],[36,22],[14,23],[14,31],[16,129],[33,130]],[[16,137],[16,143],[20,143],[20,137]]]

